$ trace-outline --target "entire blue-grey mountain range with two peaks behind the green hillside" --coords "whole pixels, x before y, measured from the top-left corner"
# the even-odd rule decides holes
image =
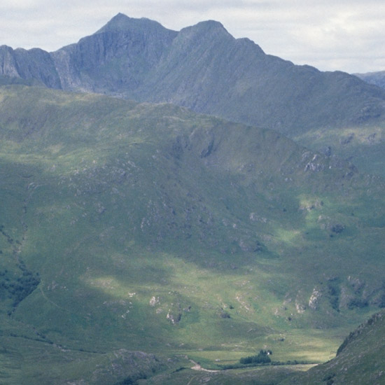
[[[233,38],[214,21],[177,32],[118,14],[96,33],[55,52],[1,46],[0,75],[62,90],[187,106],[273,128],[317,151],[331,148],[352,160],[363,146],[377,144],[380,135],[370,130],[358,138],[356,133],[346,146],[351,133],[342,128],[372,127],[385,119],[380,87],[348,73],[321,72],[266,55],[253,41]],[[338,137],[330,139],[325,134],[330,130]],[[357,163],[373,171],[365,160]]]

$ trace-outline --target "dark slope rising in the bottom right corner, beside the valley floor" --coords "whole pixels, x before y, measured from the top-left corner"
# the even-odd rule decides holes
[[[351,332],[339,347],[337,356],[328,363],[280,384],[384,384],[384,336],[385,318],[382,312]]]

